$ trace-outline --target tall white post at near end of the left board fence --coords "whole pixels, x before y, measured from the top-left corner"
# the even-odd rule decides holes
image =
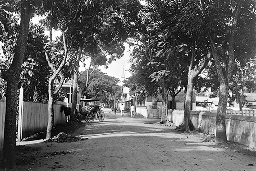
[[[24,99],[24,89],[23,87],[21,87],[19,89],[18,141],[21,141],[21,137],[22,137],[23,99]]]

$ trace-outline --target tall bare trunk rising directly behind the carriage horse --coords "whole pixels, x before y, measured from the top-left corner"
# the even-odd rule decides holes
[[[73,97],[72,97],[72,106],[70,111],[70,121],[76,119],[76,104],[77,104],[77,94],[78,94],[78,75],[79,75],[79,62],[82,54],[83,43],[80,44],[79,54],[76,57],[76,65],[74,66],[74,78],[73,78]]]

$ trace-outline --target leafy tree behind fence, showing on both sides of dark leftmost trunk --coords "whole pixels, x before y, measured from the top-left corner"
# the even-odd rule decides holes
[[[12,19],[10,18],[10,21]],[[18,24],[16,21],[12,22],[9,27],[11,31],[5,32],[1,36],[4,46],[2,46],[3,53],[6,60],[1,61],[2,70],[10,66],[7,59],[11,59],[14,55],[14,47],[17,43]],[[44,57],[44,46],[47,43],[47,37],[43,34],[44,30],[38,25],[31,25],[28,32],[28,44],[24,54],[24,62],[22,63],[21,79],[19,80],[19,87],[24,88],[25,101],[39,101],[46,102],[47,82],[48,82],[48,64]],[[2,86],[5,91],[4,86]]]

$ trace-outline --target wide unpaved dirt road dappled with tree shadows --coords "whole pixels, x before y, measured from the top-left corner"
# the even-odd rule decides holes
[[[158,121],[121,117],[105,108],[101,123],[56,131],[83,140],[19,143],[14,171],[256,171],[253,149],[217,145],[210,135],[176,132]]]

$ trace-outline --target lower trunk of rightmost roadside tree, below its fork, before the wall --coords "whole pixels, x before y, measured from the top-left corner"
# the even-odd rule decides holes
[[[220,82],[220,101],[218,103],[216,118],[216,142],[227,142],[226,135],[226,111],[228,101],[228,84]]]

